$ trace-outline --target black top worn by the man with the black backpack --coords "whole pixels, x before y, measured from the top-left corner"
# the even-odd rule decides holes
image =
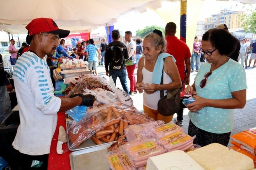
[[[123,42],[120,42],[120,41],[111,42],[106,47],[106,54],[105,54],[105,69],[106,69],[106,72],[108,72],[109,70],[113,70],[113,67],[111,66],[112,62],[113,62],[111,46],[119,46],[120,48],[123,49],[122,52],[123,52],[124,59],[127,60],[129,58],[127,47]],[[120,57],[123,57],[123,56],[120,56]],[[108,65],[109,65],[109,69],[108,69]],[[125,62],[123,63],[123,68],[121,68],[120,70],[123,70],[123,69],[126,69]]]

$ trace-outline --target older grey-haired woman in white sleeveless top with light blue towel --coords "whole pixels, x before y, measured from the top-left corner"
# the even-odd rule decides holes
[[[136,88],[143,94],[144,113],[155,120],[163,120],[169,123],[173,115],[163,116],[158,113],[158,101],[160,90],[178,89],[181,87],[181,79],[174,57],[165,52],[166,41],[160,30],[154,30],[143,41],[143,53],[145,57],[139,60]],[[165,59],[165,60],[164,60]],[[161,82],[162,69],[164,68],[164,83]]]

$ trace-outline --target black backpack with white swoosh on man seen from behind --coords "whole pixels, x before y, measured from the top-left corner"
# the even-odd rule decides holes
[[[123,49],[125,47],[119,47],[118,45],[112,45],[107,48],[107,50],[112,51],[112,61],[111,61],[111,67],[114,70],[120,70],[124,66],[124,55],[123,55]]]

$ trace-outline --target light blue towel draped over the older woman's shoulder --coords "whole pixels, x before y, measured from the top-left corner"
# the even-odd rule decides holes
[[[168,53],[161,53],[158,56],[158,59],[156,60],[155,67],[153,70],[153,78],[152,83],[160,84],[161,83],[161,76],[162,76],[162,68],[164,67],[164,58],[171,56],[174,62],[176,63],[176,60],[174,56],[168,54]]]

